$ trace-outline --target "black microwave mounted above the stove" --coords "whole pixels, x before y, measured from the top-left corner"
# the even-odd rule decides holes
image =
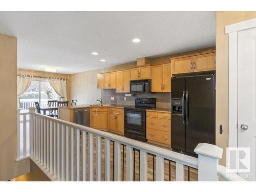
[[[151,79],[130,81],[130,93],[151,93]]]

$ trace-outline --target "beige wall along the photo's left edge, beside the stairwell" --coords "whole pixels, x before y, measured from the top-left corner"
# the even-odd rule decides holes
[[[17,39],[0,34],[0,181],[30,171],[29,160],[17,158]]]

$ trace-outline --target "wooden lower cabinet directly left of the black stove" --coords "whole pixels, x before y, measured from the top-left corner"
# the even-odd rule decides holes
[[[123,109],[108,109],[108,129],[110,131],[124,134],[124,114]]]

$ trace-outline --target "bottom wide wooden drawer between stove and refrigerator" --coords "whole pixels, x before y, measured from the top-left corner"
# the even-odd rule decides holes
[[[146,138],[151,141],[170,145],[170,132],[164,132],[147,128]]]

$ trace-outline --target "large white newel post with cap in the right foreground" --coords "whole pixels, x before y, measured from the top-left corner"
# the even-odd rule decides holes
[[[223,149],[208,143],[199,143],[194,150],[198,154],[198,181],[218,181],[217,166]]]

